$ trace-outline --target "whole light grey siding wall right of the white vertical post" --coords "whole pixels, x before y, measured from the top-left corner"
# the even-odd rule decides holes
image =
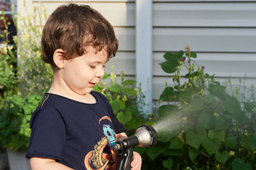
[[[155,0],[153,4],[153,98],[159,97],[170,74],[161,70],[166,51],[184,50],[198,54],[198,65],[224,82],[232,76],[246,86],[256,82],[256,1]],[[184,80],[182,80],[184,81]]]

